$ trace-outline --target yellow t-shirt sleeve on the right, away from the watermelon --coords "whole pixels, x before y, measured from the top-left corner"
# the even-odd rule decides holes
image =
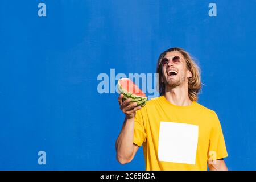
[[[226,151],[226,144],[221,129],[221,124],[217,114],[214,112],[212,129],[210,131],[208,160],[217,160],[226,158],[228,152]]]

